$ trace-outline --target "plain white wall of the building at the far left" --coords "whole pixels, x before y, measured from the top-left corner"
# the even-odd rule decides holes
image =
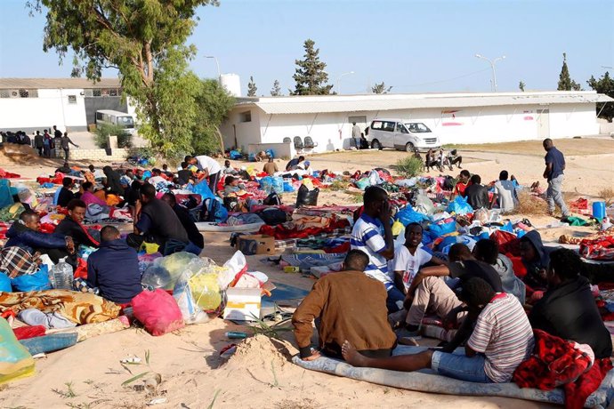
[[[38,90],[38,98],[0,98],[0,130],[43,131],[57,125],[61,131],[85,131],[82,89]],[[69,95],[77,97],[69,104]]]

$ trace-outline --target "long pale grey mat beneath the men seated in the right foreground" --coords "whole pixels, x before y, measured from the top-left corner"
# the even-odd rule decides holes
[[[414,354],[421,352],[423,347],[397,347],[394,355]],[[478,396],[478,397],[513,397],[516,399],[534,400],[556,405],[563,405],[564,396],[561,389],[539,390],[521,389],[514,383],[475,383],[456,381],[446,376],[437,375],[432,370],[423,370],[413,373],[400,373],[375,368],[355,368],[343,361],[320,357],[314,361],[303,361],[298,356],[292,358],[295,365],[304,369],[330,373],[337,376],[367,381],[392,388],[417,390],[421,392],[442,393],[447,395]],[[599,389],[595,390],[587,399],[585,407],[605,408],[614,397],[614,371],[605,376]],[[518,405],[521,407],[521,405]]]

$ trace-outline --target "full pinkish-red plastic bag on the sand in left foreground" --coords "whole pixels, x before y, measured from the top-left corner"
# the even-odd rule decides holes
[[[153,336],[172,333],[185,326],[177,302],[164,290],[144,290],[133,298],[132,304],[134,317]]]

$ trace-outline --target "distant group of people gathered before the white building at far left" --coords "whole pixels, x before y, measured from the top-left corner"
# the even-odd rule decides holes
[[[64,151],[64,160],[68,161],[70,156],[70,145],[78,148],[69,138],[69,132],[61,132],[56,125],[53,125],[53,136],[49,129],[44,129],[43,133],[36,131],[32,138],[26,132],[0,132],[2,141],[7,143],[17,143],[20,145],[28,145],[38,151],[38,156],[55,157],[60,153],[60,149]]]

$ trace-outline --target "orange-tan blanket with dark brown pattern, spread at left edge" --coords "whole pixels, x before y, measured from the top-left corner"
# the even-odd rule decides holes
[[[58,312],[77,325],[101,323],[119,315],[120,307],[92,293],[68,290],[0,293],[0,312],[39,309],[44,313]]]

